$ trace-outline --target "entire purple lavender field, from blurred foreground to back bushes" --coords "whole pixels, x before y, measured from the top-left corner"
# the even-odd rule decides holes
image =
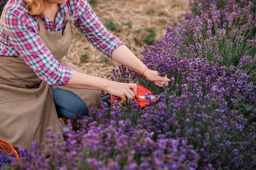
[[[18,148],[20,162],[0,154],[1,170],[256,170],[255,9],[256,0],[195,0],[186,22],[142,51],[167,87],[125,66],[112,71],[112,80],[153,91],[156,103],[103,102],[79,128],[69,121],[65,146],[49,130],[46,146]]]

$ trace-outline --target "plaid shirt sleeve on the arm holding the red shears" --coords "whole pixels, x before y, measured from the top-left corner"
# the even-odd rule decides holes
[[[36,75],[49,85],[65,85],[72,77],[73,69],[62,66],[50,53],[28,19],[29,15],[8,9],[3,18],[3,27],[11,45],[20,53]],[[30,17],[31,19],[31,17]]]

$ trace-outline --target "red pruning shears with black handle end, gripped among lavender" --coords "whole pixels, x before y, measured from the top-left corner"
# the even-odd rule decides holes
[[[137,95],[135,96],[135,101],[137,102],[136,106],[137,108],[144,108],[146,106],[149,106],[149,99],[153,102],[157,102],[158,99],[156,95],[147,88],[143,86],[137,86]],[[108,104],[111,104],[114,100],[121,101],[120,97],[116,97],[114,95],[110,95],[109,93],[106,93],[101,96],[102,102],[107,102]]]

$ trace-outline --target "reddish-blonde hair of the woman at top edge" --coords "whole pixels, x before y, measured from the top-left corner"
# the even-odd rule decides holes
[[[25,2],[29,14],[43,16],[43,0],[25,0]]]

